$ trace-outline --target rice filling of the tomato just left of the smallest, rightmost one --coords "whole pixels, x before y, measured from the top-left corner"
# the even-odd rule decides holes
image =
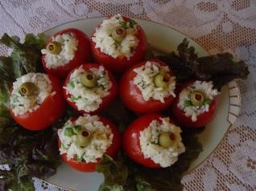
[[[159,63],[147,61],[141,67],[134,68],[137,74],[134,77],[134,84],[142,92],[144,100],[159,100],[164,103],[164,98],[172,95],[175,97],[175,76],[171,76],[167,88],[155,87],[154,79],[160,73],[170,72],[167,66],[160,66]]]

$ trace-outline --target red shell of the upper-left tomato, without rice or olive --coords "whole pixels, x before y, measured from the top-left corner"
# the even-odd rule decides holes
[[[85,35],[84,32],[74,28],[68,28],[65,30],[60,30],[55,35],[63,35],[64,33],[72,33],[74,37],[78,40],[77,50],[75,52],[74,58],[67,64],[61,67],[56,68],[47,68],[44,61],[45,55],[42,56],[43,68],[47,73],[56,75],[60,78],[65,78],[68,75],[68,72],[71,71],[74,67],[80,66],[82,63],[88,63],[91,57],[91,47],[89,43],[89,38]],[[52,38],[48,43],[52,42]]]

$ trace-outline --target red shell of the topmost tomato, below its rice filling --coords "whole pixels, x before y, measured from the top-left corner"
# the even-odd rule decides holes
[[[129,20],[129,18],[126,18],[126,17],[122,17],[122,18],[126,22]],[[95,47],[96,43],[94,43],[93,40],[91,39],[93,58],[96,60],[97,63],[101,63],[105,67],[108,67],[110,71],[113,71],[113,72],[126,71],[127,68],[141,61],[147,51],[147,37],[144,31],[142,30],[142,27],[139,25],[138,25],[138,31],[135,34],[135,36],[138,39],[138,45],[137,47],[134,48],[134,55],[132,55],[130,59],[127,59],[126,56],[124,55],[122,56],[120,55],[116,59],[114,59],[110,55],[106,55],[105,53],[101,52],[100,48]]]

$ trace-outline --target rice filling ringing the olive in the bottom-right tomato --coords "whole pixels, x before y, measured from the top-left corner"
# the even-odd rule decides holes
[[[170,132],[175,136],[175,143],[169,148],[159,145],[159,135]],[[170,123],[168,117],[152,120],[151,124],[140,132],[139,141],[145,158],[150,158],[161,167],[168,167],[178,161],[180,153],[185,152],[180,136],[180,128]]]

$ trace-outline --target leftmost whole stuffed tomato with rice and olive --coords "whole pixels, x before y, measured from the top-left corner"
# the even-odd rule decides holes
[[[53,75],[29,73],[13,83],[10,114],[23,128],[47,128],[60,118],[64,107],[60,82]]]

